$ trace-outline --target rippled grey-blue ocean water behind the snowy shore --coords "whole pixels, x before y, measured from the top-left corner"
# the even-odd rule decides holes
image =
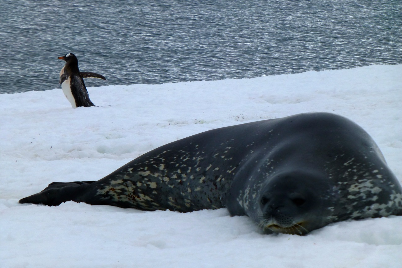
[[[402,64],[400,0],[0,0],[0,93]]]

